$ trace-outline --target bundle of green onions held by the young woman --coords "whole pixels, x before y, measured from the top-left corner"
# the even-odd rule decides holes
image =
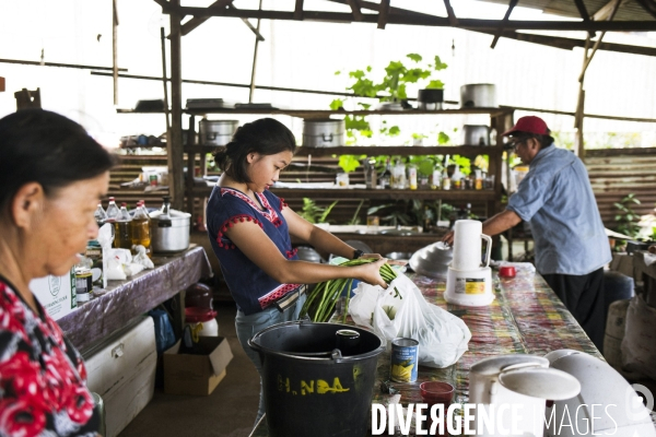
[[[345,267],[354,267],[366,264],[368,262],[377,261],[374,258],[364,258],[364,259],[354,259],[350,261],[344,261],[340,265]],[[394,269],[385,263],[380,267],[380,276],[386,283],[390,283],[397,277]],[[343,311],[343,322],[347,321],[347,315],[349,314],[349,300],[351,299],[351,288],[353,285],[353,279],[339,279],[331,280],[326,282],[319,282],[315,288],[309,293],[303,308],[301,308],[300,316],[303,317],[305,315],[309,315],[312,321],[325,322],[330,320],[332,316],[332,311],[335,311],[335,306],[337,305],[337,300],[339,299],[342,290],[347,290],[347,302]],[[396,290],[396,295],[398,291]]]

